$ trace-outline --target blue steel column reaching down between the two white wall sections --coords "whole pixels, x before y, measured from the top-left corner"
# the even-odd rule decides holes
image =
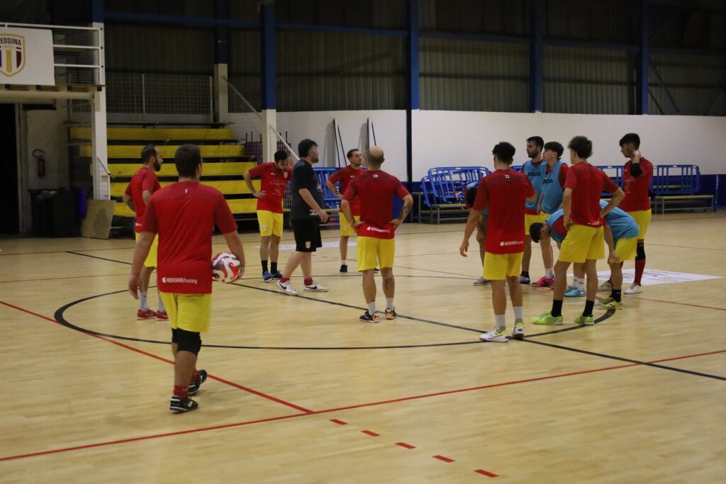
[[[408,99],[406,106],[406,176],[409,188],[413,182],[413,110],[420,107],[419,88],[419,51],[420,51],[420,27],[419,27],[419,0],[409,0],[408,20]]]

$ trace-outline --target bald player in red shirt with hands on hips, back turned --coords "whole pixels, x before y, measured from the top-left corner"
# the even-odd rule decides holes
[[[383,276],[383,293],[386,295],[386,319],[396,318],[393,305],[393,294],[396,280],[393,279],[393,258],[396,252],[393,236],[396,228],[404,223],[413,206],[413,197],[401,184],[401,181],[385,171],[380,165],[386,159],[383,149],[371,147],[366,154],[368,170],[357,176],[343,194],[340,210],[348,223],[358,233],[358,271],[363,273],[363,295],[368,305],[367,311],[359,317],[361,321],[378,323],[375,311],[375,267],[380,264]],[[397,218],[393,215],[393,195],[404,200],[404,206]],[[360,220],[355,220],[351,202],[360,200]]]

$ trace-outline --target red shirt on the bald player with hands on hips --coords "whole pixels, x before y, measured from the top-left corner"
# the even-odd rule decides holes
[[[403,198],[409,194],[401,181],[385,171],[366,170],[356,176],[343,194],[343,200],[358,197],[361,221],[358,237],[393,239],[396,228],[388,223],[393,218],[393,195]]]

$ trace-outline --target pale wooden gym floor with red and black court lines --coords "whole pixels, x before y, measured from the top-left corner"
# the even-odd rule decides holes
[[[181,415],[168,324],[136,321],[125,289],[131,239],[1,240],[0,480],[723,482],[726,279],[646,286],[594,327],[572,324],[584,300],[566,300],[563,327],[479,343],[491,289],[471,284],[462,230],[401,227],[400,316],[378,325],[357,321],[361,279],[338,274],[337,247],[314,257],[330,292],[293,298],[261,281],[258,237],[242,234],[248,272],[215,284],[211,377]],[[725,238],[723,212],[653,216],[647,269],[726,277]],[[551,299],[524,288],[526,321]]]

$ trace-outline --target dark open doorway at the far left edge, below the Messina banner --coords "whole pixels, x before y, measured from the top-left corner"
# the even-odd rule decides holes
[[[0,234],[20,231],[17,205],[17,138],[15,104],[0,104]]]

